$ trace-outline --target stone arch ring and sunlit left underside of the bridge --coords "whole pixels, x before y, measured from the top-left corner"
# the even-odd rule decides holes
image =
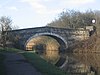
[[[52,33],[39,33],[39,34],[36,34],[36,35],[30,37],[27,40],[27,42],[25,43],[25,50],[32,50],[31,46],[34,45],[34,43],[32,43],[32,39],[33,38],[37,38],[39,36],[49,36],[49,37],[52,37],[53,39],[55,39],[60,44],[60,48],[62,50],[66,50],[68,48],[67,41],[65,41],[61,36],[59,36],[57,34],[52,34]],[[43,39],[41,39],[41,40],[43,40]],[[29,42],[31,42],[30,45],[28,45]],[[30,48],[28,46],[30,46]]]

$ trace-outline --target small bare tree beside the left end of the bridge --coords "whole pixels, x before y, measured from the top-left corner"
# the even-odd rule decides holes
[[[0,26],[1,26],[1,44],[3,47],[6,46],[6,41],[7,41],[7,36],[8,36],[8,31],[12,30],[12,20],[9,17],[2,16],[0,18]]]

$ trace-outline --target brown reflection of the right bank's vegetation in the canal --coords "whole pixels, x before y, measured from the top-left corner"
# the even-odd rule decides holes
[[[92,67],[91,69],[94,72],[100,72],[100,54],[99,52],[83,52],[83,53],[74,53],[73,57],[78,61],[86,64],[87,66]]]

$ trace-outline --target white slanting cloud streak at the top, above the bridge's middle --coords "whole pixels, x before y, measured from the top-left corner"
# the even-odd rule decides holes
[[[51,2],[53,0],[22,0],[22,2],[29,3],[34,11],[38,14],[56,14],[61,12],[61,9],[52,9],[47,5],[43,4],[43,2]]]

